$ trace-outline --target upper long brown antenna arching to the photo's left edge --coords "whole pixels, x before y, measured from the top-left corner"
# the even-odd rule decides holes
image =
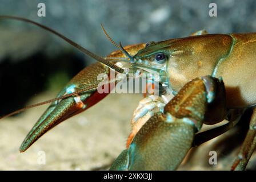
[[[59,36],[59,38],[65,40],[67,43],[71,44],[72,46],[74,46],[75,48],[79,49],[79,51],[82,51],[83,53],[85,53],[86,55],[92,57],[93,59],[107,65],[107,67],[110,67],[112,69],[114,69],[115,71],[119,72],[119,73],[123,73],[124,72],[124,69],[118,67],[117,65],[113,64],[113,63],[110,63],[109,61],[111,60],[107,60],[107,59],[104,59],[103,57],[101,56],[97,56],[95,55],[93,52],[90,52],[88,51],[87,49],[83,48],[82,46],[80,46],[79,44],[75,43],[73,40],[70,40],[69,38],[66,38],[66,36],[62,35],[62,34],[59,34],[59,32],[49,28],[49,27],[46,27],[40,23],[37,23],[37,22],[34,22],[33,20],[29,20],[29,19],[26,19],[26,18],[21,18],[21,17],[17,17],[17,16],[0,16],[0,19],[15,19],[15,20],[21,20],[23,22],[28,22],[28,23],[31,23],[31,24],[35,24],[36,26],[38,27],[41,27],[51,33],[53,33],[54,35],[57,35]]]

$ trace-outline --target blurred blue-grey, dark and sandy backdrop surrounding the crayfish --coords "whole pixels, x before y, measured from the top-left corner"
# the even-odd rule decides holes
[[[40,2],[46,5],[45,17],[37,15]],[[217,17],[209,16],[211,2],[217,4]],[[115,50],[101,23],[116,42],[129,45],[185,37],[202,29],[210,34],[255,32],[255,10],[254,0],[0,0],[0,15],[42,23],[100,56]],[[0,115],[54,98],[67,81],[93,62],[41,28],[1,19]],[[105,169],[125,148],[130,119],[141,99],[138,94],[110,94],[51,130],[24,154],[19,154],[19,144],[47,106],[3,119],[0,169]],[[38,164],[38,151],[45,151],[45,165]],[[203,155],[207,158],[207,153]],[[224,156],[229,162],[233,159]],[[209,166],[207,160],[195,158],[193,165],[181,169],[229,169],[226,165]],[[254,162],[249,169],[255,169]]]

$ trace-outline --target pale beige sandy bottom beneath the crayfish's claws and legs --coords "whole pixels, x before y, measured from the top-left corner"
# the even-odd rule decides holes
[[[54,95],[41,94],[30,104],[50,98],[54,98]],[[2,119],[0,170],[109,169],[114,159],[125,149],[131,129],[130,119],[141,99],[140,94],[110,94],[97,105],[54,127],[23,153],[18,148],[47,105],[27,110],[17,117]],[[220,137],[225,135],[227,133]],[[215,138],[202,144],[194,155],[185,158],[185,165],[179,169],[229,170],[238,150],[227,156],[218,154],[218,165],[209,165],[209,151],[218,140]],[[218,148],[221,147],[215,147],[217,152]],[[255,164],[254,155],[249,162],[250,169],[255,169]]]

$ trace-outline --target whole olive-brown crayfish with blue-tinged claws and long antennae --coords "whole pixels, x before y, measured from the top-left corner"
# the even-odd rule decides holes
[[[54,126],[106,97],[113,89],[111,84],[123,80],[115,76],[141,77],[143,73],[150,73],[146,83],[153,85],[153,92],[146,93],[134,111],[126,150],[114,161],[111,170],[177,169],[191,147],[230,130],[247,109],[253,109],[246,138],[231,167],[233,170],[246,168],[256,147],[256,33],[198,31],[186,38],[123,47],[115,43],[102,26],[118,50],[101,57],[32,20],[14,16],[0,18],[42,27],[98,61],[79,72],[55,99],[25,108],[51,103],[23,140],[21,152]],[[99,74],[110,76],[111,71],[115,79],[98,79]],[[99,92],[99,88],[108,92]],[[202,125],[214,125],[224,119],[229,122],[199,133]]]

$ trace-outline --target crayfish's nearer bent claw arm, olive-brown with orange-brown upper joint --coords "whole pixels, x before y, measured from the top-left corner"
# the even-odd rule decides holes
[[[216,103],[219,98],[225,98],[223,87],[222,81],[211,76],[188,82],[165,105],[163,112],[154,113],[142,125],[127,150],[118,156],[110,169],[177,169],[193,146],[195,133],[203,122],[212,120],[215,123],[225,117],[225,103]],[[214,108],[222,111],[211,117],[211,113],[215,113]]]

